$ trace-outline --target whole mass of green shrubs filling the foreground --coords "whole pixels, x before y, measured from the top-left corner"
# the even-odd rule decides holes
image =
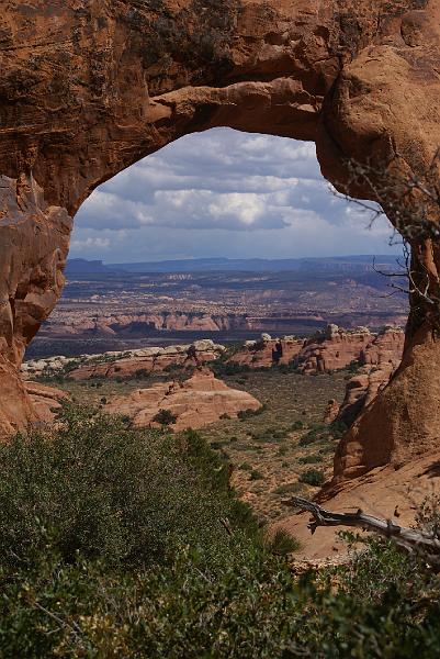
[[[363,543],[350,563],[297,577],[296,540],[262,546],[198,433],[67,410],[57,432],[1,445],[0,468],[2,658],[438,656],[424,562],[346,534]]]

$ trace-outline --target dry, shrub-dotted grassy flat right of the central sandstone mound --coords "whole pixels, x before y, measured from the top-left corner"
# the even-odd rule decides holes
[[[264,403],[266,410],[245,421],[222,420],[201,433],[226,454],[234,466],[233,484],[263,520],[287,516],[282,500],[289,494],[317,491],[298,481],[303,472],[313,468],[331,476],[337,440],[321,422],[328,400],[342,400],[345,378],[345,372],[304,377],[277,370],[225,378]],[[311,428],[318,428],[316,440],[300,446]]]

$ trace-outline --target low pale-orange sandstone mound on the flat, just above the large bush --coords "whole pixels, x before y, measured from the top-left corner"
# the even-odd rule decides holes
[[[160,427],[155,418],[161,410],[167,410],[176,417],[170,427],[183,431],[201,428],[224,414],[237,416],[239,412],[260,407],[261,403],[249,393],[230,389],[208,369],[199,369],[184,382],[158,383],[150,389],[138,389],[129,396],[117,396],[105,405],[105,411],[126,414],[137,427]]]

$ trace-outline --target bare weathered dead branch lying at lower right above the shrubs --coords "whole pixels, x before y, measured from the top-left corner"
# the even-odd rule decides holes
[[[313,521],[308,525],[312,534],[319,526],[350,526],[373,532],[393,540],[408,554],[421,556],[430,566],[440,569],[440,539],[435,534],[398,526],[391,520],[381,520],[361,510],[356,513],[331,513],[302,496],[294,496],[286,503],[312,513]]]

